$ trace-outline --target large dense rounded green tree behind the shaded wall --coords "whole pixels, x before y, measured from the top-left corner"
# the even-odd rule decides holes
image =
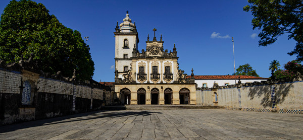
[[[93,76],[94,63],[89,46],[80,32],[62,25],[42,4],[32,1],[11,1],[0,21],[0,59],[18,62],[33,53],[42,71],[65,77],[73,75],[88,80]]]

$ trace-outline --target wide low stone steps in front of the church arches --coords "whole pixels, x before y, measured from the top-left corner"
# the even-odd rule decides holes
[[[117,105],[104,106],[101,110],[160,110],[160,109],[224,109],[223,106],[202,105]]]

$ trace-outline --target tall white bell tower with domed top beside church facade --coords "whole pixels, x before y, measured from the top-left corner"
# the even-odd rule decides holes
[[[115,28],[115,71],[118,71],[118,78],[122,78],[128,69],[131,68],[131,57],[133,50],[137,50],[139,38],[136,23],[131,23],[128,11],[123,22]],[[119,29],[120,27],[120,29]]]

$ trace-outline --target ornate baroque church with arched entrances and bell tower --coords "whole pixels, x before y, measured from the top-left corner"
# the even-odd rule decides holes
[[[123,105],[196,104],[193,73],[179,69],[177,48],[164,49],[160,40],[149,40],[146,49],[138,50],[138,33],[127,12],[115,28],[115,93]],[[191,69],[193,72],[193,69]]]

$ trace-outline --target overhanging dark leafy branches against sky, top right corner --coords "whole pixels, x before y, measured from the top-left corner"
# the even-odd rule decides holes
[[[297,54],[298,60],[303,60],[303,1],[302,0],[248,0],[243,8],[251,11],[252,29],[262,29],[259,33],[259,46],[274,43],[279,36],[289,34],[288,39],[294,39],[296,46],[289,55]]]

